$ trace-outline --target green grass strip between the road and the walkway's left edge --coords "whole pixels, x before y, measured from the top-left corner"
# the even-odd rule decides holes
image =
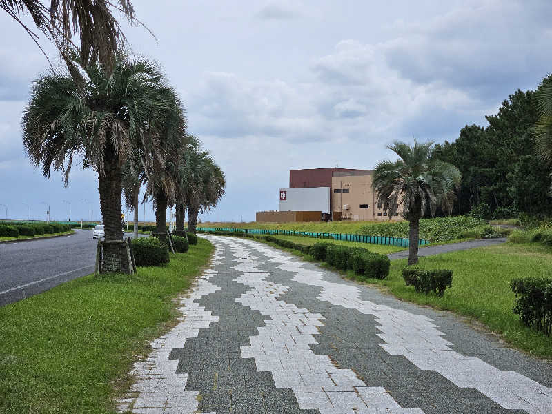
[[[138,355],[208,262],[199,239],[164,267],[81,277],[0,308],[0,413],[112,413]]]

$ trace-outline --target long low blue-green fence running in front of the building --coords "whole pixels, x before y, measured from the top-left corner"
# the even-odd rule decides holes
[[[303,236],[315,237],[316,239],[335,239],[344,242],[359,242],[371,244],[385,244],[387,246],[408,247],[408,239],[403,237],[385,237],[385,236],[363,236],[346,235],[341,233],[317,233],[311,231],[295,230],[263,230],[260,228],[228,228],[228,227],[198,227],[197,231],[213,233],[216,231],[232,231],[237,233],[246,233],[249,235],[280,235],[280,236]],[[420,246],[429,244],[427,240],[420,239]]]

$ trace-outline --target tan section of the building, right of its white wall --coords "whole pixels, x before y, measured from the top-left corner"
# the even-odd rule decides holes
[[[337,171],[332,176],[331,205],[333,217],[342,220],[388,220],[387,212],[377,208],[372,188],[371,170]],[[336,214],[337,213],[337,214]],[[402,220],[401,215],[391,217]]]

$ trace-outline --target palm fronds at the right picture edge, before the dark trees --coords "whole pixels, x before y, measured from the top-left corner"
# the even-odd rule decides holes
[[[535,125],[535,144],[540,158],[547,166],[552,166],[552,75],[542,79],[537,90],[538,112]],[[552,197],[552,171],[549,195]]]

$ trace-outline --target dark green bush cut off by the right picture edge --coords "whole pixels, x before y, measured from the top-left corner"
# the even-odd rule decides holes
[[[526,326],[550,335],[552,328],[552,279],[525,277],[512,279],[515,295],[513,313],[520,315]]]

